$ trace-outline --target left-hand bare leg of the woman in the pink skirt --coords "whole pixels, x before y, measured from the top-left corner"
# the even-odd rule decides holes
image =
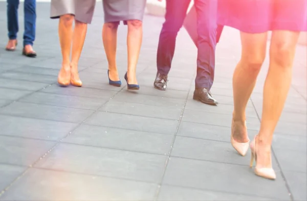
[[[242,56],[233,73],[233,138],[247,142],[245,110],[256,84],[261,65],[266,57],[267,33],[241,32]]]

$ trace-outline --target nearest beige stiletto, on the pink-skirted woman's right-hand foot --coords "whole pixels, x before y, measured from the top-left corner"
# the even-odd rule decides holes
[[[276,173],[272,167],[262,167],[262,168],[257,168],[257,154],[256,154],[256,137],[250,144],[250,148],[252,151],[252,157],[251,157],[251,162],[250,162],[250,167],[253,167],[254,160],[256,162],[256,166],[254,169],[254,172],[256,175],[259,177],[263,177],[269,180],[275,180],[276,179]]]

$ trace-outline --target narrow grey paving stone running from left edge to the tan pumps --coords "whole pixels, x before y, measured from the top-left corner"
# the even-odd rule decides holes
[[[47,76],[30,72],[15,72],[15,71],[4,72],[0,74],[0,78],[6,78],[12,80],[16,79],[16,80],[30,81],[30,82],[34,81],[34,82],[47,83],[47,84],[52,84],[57,81],[57,77],[55,76]]]

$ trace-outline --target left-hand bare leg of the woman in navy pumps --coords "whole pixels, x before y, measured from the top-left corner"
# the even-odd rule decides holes
[[[102,41],[108,62],[109,78],[112,81],[119,81],[116,65],[117,28],[117,22],[104,23],[102,28]]]

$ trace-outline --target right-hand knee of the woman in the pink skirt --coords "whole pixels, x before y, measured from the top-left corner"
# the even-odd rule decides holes
[[[292,66],[294,57],[294,49],[286,42],[278,42],[271,45],[270,59],[277,66],[289,68]]]

